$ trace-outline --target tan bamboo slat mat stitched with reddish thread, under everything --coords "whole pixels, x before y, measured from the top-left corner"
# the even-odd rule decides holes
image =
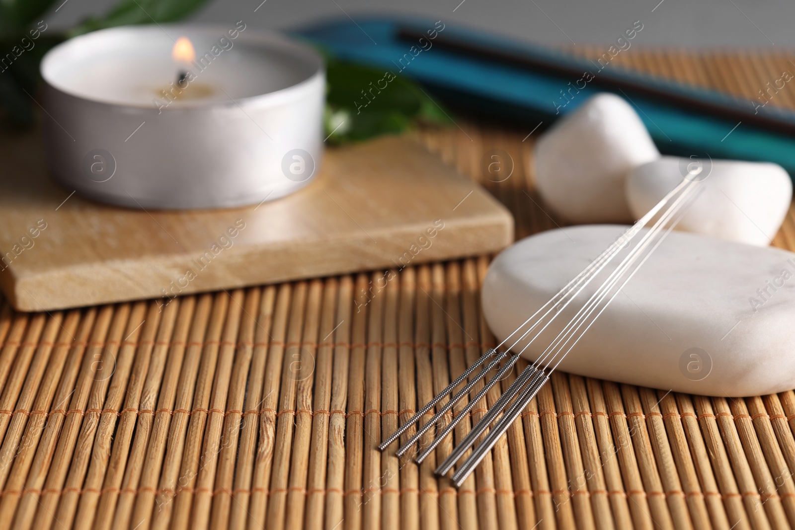
[[[789,70],[788,56],[761,53],[620,59],[748,97]],[[419,135],[510,207],[519,238],[556,226],[533,192],[537,133],[458,125]],[[495,149],[514,161],[502,182],[484,171]],[[795,249],[795,211],[774,244]],[[379,453],[382,435],[494,344],[478,301],[488,262],[165,308],[5,304],[0,528],[795,526],[793,392],[700,397],[556,373],[459,490],[432,474],[450,440],[421,466]]]

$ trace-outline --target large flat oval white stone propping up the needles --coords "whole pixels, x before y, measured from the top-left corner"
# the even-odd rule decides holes
[[[510,335],[623,230],[549,230],[500,253],[482,293],[494,335]],[[561,312],[527,358],[545,350],[602,281],[597,277]],[[708,396],[777,393],[795,388],[793,322],[795,253],[673,231],[559,368]]]

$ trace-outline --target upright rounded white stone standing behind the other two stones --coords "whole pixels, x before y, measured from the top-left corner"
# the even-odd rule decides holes
[[[537,142],[538,192],[570,222],[630,222],[626,175],[659,157],[630,104],[617,95],[597,94]]]

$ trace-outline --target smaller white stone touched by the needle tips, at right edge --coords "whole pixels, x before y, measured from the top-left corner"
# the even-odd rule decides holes
[[[662,157],[634,168],[626,179],[626,199],[635,218],[646,214],[688,173],[688,158]],[[778,164],[703,161],[695,177],[704,188],[677,230],[767,246],[792,201],[789,175]],[[703,179],[703,180],[702,180]]]

